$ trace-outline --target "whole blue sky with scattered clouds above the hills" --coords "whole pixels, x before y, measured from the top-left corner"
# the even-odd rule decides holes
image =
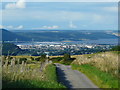
[[[8,30],[118,30],[117,2],[18,0],[0,5],[0,28]]]

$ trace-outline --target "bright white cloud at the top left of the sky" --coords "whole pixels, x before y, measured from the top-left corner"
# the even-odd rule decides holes
[[[8,3],[5,8],[6,9],[16,9],[16,8],[25,8],[26,4],[25,4],[25,0],[19,0],[16,3]]]

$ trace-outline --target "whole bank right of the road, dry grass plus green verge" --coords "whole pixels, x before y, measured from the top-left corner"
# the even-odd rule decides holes
[[[72,68],[86,74],[100,88],[118,88],[120,53],[117,51],[76,56]]]

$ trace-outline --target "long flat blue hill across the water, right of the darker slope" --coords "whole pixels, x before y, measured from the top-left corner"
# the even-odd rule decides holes
[[[26,30],[18,31],[20,35],[33,38],[35,41],[80,41],[97,39],[115,39],[117,36],[105,31],[81,30]]]

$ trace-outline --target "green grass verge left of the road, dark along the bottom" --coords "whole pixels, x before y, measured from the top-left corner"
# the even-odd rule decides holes
[[[3,88],[65,88],[57,82],[56,67],[53,64],[46,66],[44,71],[44,79],[26,79],[11,80],[3,79]]]

